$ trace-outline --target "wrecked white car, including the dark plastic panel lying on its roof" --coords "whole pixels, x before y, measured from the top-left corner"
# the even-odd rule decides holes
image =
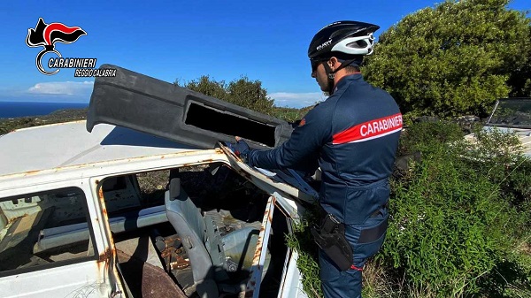
[[[87,121],[0,136],[0,297],[306,296],[284,237],[316,191],[220,142],[289,126],[165,84],[119,69]]]

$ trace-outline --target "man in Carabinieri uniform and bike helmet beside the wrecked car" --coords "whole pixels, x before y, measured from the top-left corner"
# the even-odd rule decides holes
[[[325,297],[361,297],[367,258],[380,250],[388,226],[389,175],[402,115],[389,93],[368,84],[359,66],[373,53],[379,27],[337,21],[312,39],[312,78],[329,97],[309,111],[288,141],[253,150],[242,139],[235,153],[265,169],[315,171],[319,165],[319,277]]]

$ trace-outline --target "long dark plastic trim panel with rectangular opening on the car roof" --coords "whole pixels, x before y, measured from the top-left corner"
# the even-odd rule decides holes
[[[135,73],[116,65],[116,76],[96,77],[87,130],[99,123],[124,126],[199,149],[241,136],[253,149],[288,140],[293,128],[284,120],[251,111],[212,96]]]

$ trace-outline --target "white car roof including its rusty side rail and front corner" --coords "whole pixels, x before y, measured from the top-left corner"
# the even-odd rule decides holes
[[[94,177],[97,183],[99,178],[130,172],[222,163],[235,167],[236,172],[271,194],[280,191],[305,200],[312,198],[304,193],[309,187],[295,178],[276,174],[268,178],[219,146],[196,149],[108,124],[99,124],[89,133],[86,121],[23,128],[0,135],[0,196],[19,195],[27,192],[25,187],[47,187],[66,180]]]

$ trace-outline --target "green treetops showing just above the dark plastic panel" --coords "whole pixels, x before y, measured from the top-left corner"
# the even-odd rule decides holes
[[[251,81],[245,76],[238,80],[232,80],[228,84],[225,80],[211,80],[208,75],[182,85],[179,80],[175,80],[174,84],[202,93],[205,96],[235,103],[253,111],[269,115],[273,112],[273,99],[267,97],[267,90],[262,88],[262,82],[259,80]]]

